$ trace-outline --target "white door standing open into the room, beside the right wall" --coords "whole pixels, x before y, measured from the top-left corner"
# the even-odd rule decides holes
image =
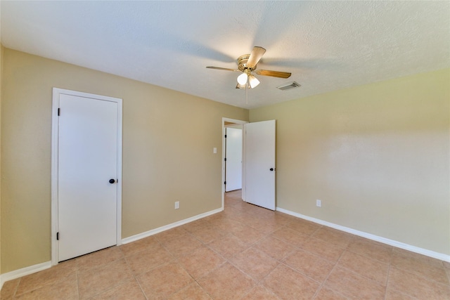
[[[245,130],[245,201],[275,210],[275,120]]]

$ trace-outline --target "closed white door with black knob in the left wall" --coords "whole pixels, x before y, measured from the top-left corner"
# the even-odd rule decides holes
[[[118,243],[122,103],[100,97],[58,93],[58,261]]]

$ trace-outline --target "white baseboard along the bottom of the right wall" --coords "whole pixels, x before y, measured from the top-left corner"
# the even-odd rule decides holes
[[[345,231],[346,233],[352,233],[352,235],[358,235],[360,237],[366,237],[366,239],[369,239],[369,240],[374,240],[376,242],[382,242],[383,244],[389,244],[390,246],[394,246],[394,247],[397,247],[397,248],[405,249],[405,250],[408,250],[408,251],[411,251],[411,252],[416,252],[418,254],[423,254],[425,256],[430,256],[433,259],[439,259],[441,261],[448,261],[448,262],[450,262],[450,255],[447,255],[447,254],[442,254],[442,253],[434,252],[434,251],[431,251],[431,250],[428,250],[428,249],[423,249],[423,248],[420,248],[420,247],[413,246],[411,244],[405,244],[403,242],[398,242],[396,240],[390,240],[390,239],[387,239],[385,237],[380,237],[378,235],[373,235],[371,233],[364,233],[363,231],[355,230],[355,229],[348,228],[348,227],[345,227],[345,226],[340,226],[338,224],[330,223],[330,222],[327,222],[327,221],[323,221],[321,219],[311,218],[310,216],[304,216],[304,215],[298,214],[298,213],[296,213],[294,211],[289,211],[288,209],[282,209],[281,207],[276,207],[276,210],[282,212],[283,214],[289,214],[290,216],[296,216],[297,218],[300,218],[300,219],[304,219],[304,220],[311,221],[311,222],[314,222],[314,223],[318,223],[318,224],[321,224],[321,225],[324,225],[324,226],[335,228],[337,230]]]

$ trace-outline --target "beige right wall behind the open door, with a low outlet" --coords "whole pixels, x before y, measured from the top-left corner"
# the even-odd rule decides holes
[[[250,110],[277,120],[277,206],[450,254],[449,102],[446,69]]]

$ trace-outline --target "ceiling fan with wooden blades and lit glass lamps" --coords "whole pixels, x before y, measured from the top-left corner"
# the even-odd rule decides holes
[[[259,84],[259,80],[252,73],[262,76],[289,78],[290,73],[288,72],[256,70],[257,63],[259,63],[259,60],[262,58],[265,52],[266,49],[262,47],[259,46],[253,47],[252,53],[239,56],[238,69],[229,69],[226,67],[207,67],[207,68],[233,72],[242,72],[242,74],[238,76],[238,85],[236,86],[236,89],[254,89]]]

